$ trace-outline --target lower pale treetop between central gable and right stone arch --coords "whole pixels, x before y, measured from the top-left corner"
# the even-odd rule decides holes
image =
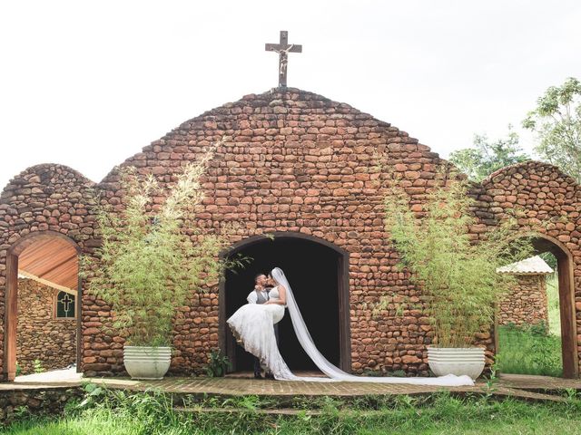
[[[453,151],[449,160],[469,179],[481,181],[497,169],[528,160],[528,156],[518,146],[517,132],[508,125],[506,139],[491,142],[486,134],[476,134],[472,148]]]

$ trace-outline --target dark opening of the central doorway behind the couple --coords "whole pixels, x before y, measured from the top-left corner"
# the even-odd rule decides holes
[[[281,267],[291,284],[300,312],[320,352],[342,370],[350,372],[349,253],[340,247],[302,233],[273,233],[250,237],[224,256],[248,256],[251,264],[227,272],[220,286],[220,346],[232,371],[251,371],[252,358],[235,343],[226,319],[254,287],[257,273]],[[316,369],[300,347],[288,315],[279,324],[282,357],[291,370]]]

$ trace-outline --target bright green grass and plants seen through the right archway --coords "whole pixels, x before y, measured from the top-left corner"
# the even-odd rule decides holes
[[[561,337],[548,333],[546,324],[498,327],[498,371],[562,376]]]

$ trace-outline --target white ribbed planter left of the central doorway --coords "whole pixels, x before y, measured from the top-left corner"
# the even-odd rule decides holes
[[[163,379],[170,369],[172,348],[170,347],[123,347],[123,363],[132,379]]]

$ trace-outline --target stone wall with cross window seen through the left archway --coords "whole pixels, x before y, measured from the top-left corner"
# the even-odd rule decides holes
[[[76,362],[76,321],[54,318],[56,293],[32,279],[18,280],[16,361],[21,374],[34,372],[34,360],[44,370],[64,369]]]

